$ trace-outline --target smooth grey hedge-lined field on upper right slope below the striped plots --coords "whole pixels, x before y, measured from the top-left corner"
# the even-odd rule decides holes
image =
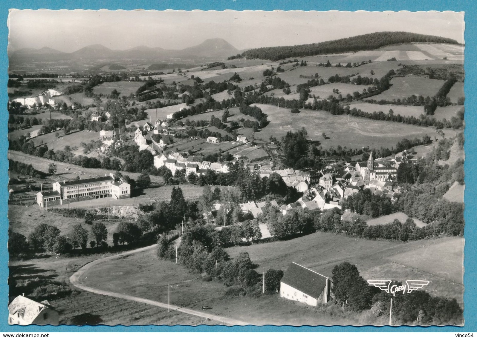
[[[376,101],[393,101],[394,99],[403,99],[411,95],[433,97],[444,83],[444,80],[428,79],[414,75],[394,77],[391,80],[391,88],[381,94],[374,95],[372,98]]]

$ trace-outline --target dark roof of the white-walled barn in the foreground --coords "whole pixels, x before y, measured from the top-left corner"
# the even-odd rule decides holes
[[[304,266],[291,262],[280,282],[310,297],[318,298],[326,286],[326,277]]]

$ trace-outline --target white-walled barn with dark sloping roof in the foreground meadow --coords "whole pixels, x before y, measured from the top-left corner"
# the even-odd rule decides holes
[[[311,306],[330,300],[330,278],[291,262],[280,280],[280,297]]]

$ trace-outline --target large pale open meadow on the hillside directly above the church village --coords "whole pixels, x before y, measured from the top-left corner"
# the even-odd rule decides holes
[[[386,147],[391,149],[403,138],[422,137],[428,134],[431,138],[436,132],[428,127],[421,127],[384,121],[375,121],[352,117],[348,115],[330,115],[328,112],[304,110],[301,113],[290,113],[289,109],[279,108],[273,105],[257,104],[257,106],[269,115],[270,124],[261,131],[255,133],[255,138],[268,140],[270,135],[280,139],[288,131],[298,131],[305,127],[308,137],[313,141],[320,141],[323,148],[341,145],[348,148],[371,148]],[[349,118],[349,121],[348,121]],[[446,130],[444,130],[446,133]],[[323,139],[321,133],[326,133],[327,139]]]

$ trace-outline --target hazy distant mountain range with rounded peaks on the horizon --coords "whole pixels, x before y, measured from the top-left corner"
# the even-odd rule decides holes
[[[40,49],[22,48],[9,52],[10,61],[67,61],[67,60],[143,60],[158,58],[227,57],[240,51],[223,39],[207,39],[197,46],[182,50],[167,50],[160,47],[137,46],[125,51],[112,50],[101,44],[83,47],[72,53],[49,47]]]

